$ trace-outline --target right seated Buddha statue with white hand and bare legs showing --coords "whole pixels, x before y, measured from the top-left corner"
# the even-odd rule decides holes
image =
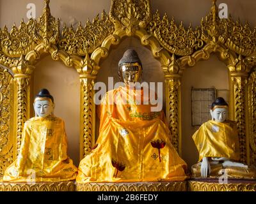
[[[255,167],[240,163],[239,138],[235,122],[227,120],[228,104],[217,98],[211,106],[211,117],[193,135],[199,152],[197,164],[191,168],[193,177],[256,179]]]

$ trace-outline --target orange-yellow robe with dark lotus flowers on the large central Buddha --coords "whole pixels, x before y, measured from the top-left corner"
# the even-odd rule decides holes
[[[99,138],[79,164],[76,181],[156,182],[187,178],[187,164],[170,141],[164,113],[143,105],[143,90],[119,87],[106,93],[99,108]],[[141,105],[134,98],[141,96]],[[113,101],[115,104],[113,104]],[[126,103],[124,103],[126,102]]]

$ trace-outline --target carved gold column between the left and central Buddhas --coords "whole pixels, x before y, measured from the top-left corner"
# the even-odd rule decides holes
[[[80,159],[90,154],[95,136],[95,103],[93,85],[95,78],[80,75]]]

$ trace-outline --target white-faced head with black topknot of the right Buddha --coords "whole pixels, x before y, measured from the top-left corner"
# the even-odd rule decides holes
[[[228,118],[228,104],[225,99],[218,97],[211,107],[212,120],[216,122],[225,122]]]

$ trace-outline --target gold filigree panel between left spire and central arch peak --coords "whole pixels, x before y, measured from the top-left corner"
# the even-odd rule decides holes
[[[109,20],[105,11],[102,12],[101,19],[99,15],[93,19],[93,22],[87,21],[83,27],[78,25],[76,31],[73,27],[63,27],[62,36],[58,44],[68,54],[84,56],[100,47],[102,41],[114,31],[114,25]]]

